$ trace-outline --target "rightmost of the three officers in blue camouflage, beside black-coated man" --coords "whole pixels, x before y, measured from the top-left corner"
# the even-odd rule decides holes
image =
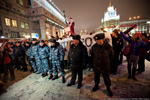
[[[62,76],[62,82],[65,83],[65,71],[62,67],[63,59],[64,59],[63,48],[58,42],[56,42],[55,38],[52,38],[49,41],[51,44],[51,46],[49,47],[50,48],[49,61],[50,61],[50,65],[53,66],[53,71],[55,75],[53,78],[50,76],[49,79],[51,78],[52,80],[58,79],[57,69],[59,69],[61,76]]]

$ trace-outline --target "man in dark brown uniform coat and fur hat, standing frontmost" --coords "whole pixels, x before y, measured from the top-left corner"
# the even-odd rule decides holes
[[[91,48],[95,81],[95,86],[92,91],[95,92],[96,90],[98,90],[98,85],[100,83],[100,73],[102,73],[105,85],[107,87],[107,92],[109,96],[112,96],[113,94],[110,90],[111,81],[109,75],[110,61],[114,57],[114,52],[112,47],[108,43],[104,42],[104,38],[105,34],[103,33],[95,35],[94,39],[96,40],[96,43]]]

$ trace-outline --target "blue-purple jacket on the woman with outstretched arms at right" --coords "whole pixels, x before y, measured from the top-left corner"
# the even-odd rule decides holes
[[[144,50],[149,50],[149,44],[146,45],[143,40],[134,40],[133,38],[127,37],[123,32],[120,32],[121,36],[131,44],[131,49],[130,49],[130,55],[136,55],[139,56],[139,50],[140,48],[143,48]]]

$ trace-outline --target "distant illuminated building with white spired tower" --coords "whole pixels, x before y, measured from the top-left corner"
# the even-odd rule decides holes
[[[138,16],[139,17],[139,16]],[[133,19],[129,21],[120,22],[120,15],[117,15],[117,11],[113,6],[107,8],[107,12],[104,13],[104,18],[101,20],[101,26],[95,29],[95,33],[103,32],[103,28],[107,32],[112,32],[114,29],[120,28],[122,31],[125,31],[133,25],[137,25],[136,29],[133,29],[131,33],[140,32],[140,33],[150,33],[150,25],[147,23],[148,19]]]

